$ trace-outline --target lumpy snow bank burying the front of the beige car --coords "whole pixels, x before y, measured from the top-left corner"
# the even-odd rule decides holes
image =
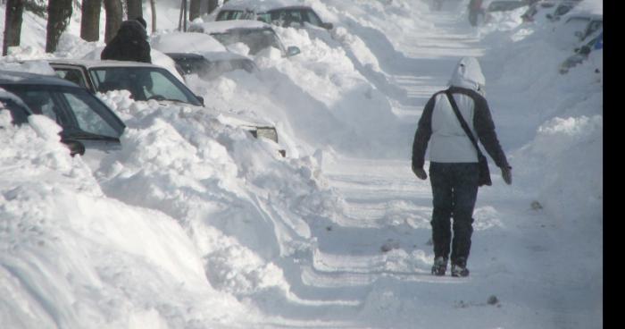
[[[213,285],[245,294],[267,286],[287,291],[272,262],[310,254],[307,221],[340,211],[315,159],[282,158],[268,141],[207,111],[132,103],[126,93],[104,100],[131,118],[124,148],[96,172],[104,192],[176,218]],[[229,255],[243,258],[224,261]]]

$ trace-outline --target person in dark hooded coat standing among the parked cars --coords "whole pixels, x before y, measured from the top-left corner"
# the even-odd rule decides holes
[[[146,20],[142,17],[123,21],[115,37],[104,47],[100,58],[152,63],[146,27]]]

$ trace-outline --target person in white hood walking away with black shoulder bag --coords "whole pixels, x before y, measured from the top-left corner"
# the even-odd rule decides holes
[[[497,139],[484,86],[478,60],[463,57],[454,69],[449,88],[429,98],[414,134],[412,172],[421,180],[428,178],[423,165],[429,148],[429,181],[434,206],[430,222],[434,242],[432,274],[435,275],[445,275],[450,252],[451,274],[469,275],[467,259],[471,249],[472,215],[478,196],[481,155],[476,149],[476,136],[501,168],[505,183],[512,184],[512,167]],[[469,130],[473,140],[466,132]],[[454,217],[453,240],[451,217]]]

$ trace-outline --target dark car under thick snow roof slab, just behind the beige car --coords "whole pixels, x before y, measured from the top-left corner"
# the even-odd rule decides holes
[[[230,52],[219,41],[205,33],[171,32],[151,39],[153,49],[161,51],[176,62],[180,75],[197,74],[212,80],[225,72],[258,70],[254,61]]]

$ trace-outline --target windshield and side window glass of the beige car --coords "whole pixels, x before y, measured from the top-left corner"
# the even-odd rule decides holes
[[[201,106],[197,97],[165,69],[97,67],[89,69],[97,91],[128,90],[135,100],[171,100]]]

